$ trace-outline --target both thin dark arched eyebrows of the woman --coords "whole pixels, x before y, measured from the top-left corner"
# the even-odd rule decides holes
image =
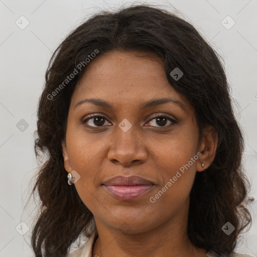
[[[93,103],[97,106],[108,108],[108,109],[114,109],[114,107],[109,102],[107,102],[105,100],[101,100],[101,99],[95,99],[95,98],[83,99],[83,100],[79,101],[74,106],[74,108],[80,106],[81,104],[83,104],[85,102],[91,102],[91,103]],[[182,108],[184,111],[186,111],[185,105],[182,102],[180,102],[179,100],[176,100],[176,99],[173,99],[173,98],[160,98],[160,99],[150,100],[150,101],[147,101],[147,102],[141,104],[140,109],[143,110],[143,109],[146,109],[146,108],[154,107],[154,106],[165,104],[165,103],[168,103],[168,102],[175,103],[180,108]]]

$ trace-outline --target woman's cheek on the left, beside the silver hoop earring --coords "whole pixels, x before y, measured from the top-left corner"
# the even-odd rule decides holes
[[[74,186],[89,210],[94,209],[101,201],[96,185],[101,164],[107,155],[104,152],[103,139],[97,134],[85,135],[81,128],[70,125],[67,127],[66,144],[71,168],[80,175]]]

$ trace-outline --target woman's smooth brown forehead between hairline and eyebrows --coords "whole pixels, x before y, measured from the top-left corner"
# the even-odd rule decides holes
[[[172,97],[190,107],[186,97],[168,82],[161,59],[149,52],[112,51],[97,56],[87,66],[73,94],[71,105],[83,98],[133,104]]]

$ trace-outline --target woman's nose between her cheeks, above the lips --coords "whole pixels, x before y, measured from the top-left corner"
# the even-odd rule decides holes
[[[109,161],[125,167],[146,162],[147,146],[136,129],[133,125],[129,131],[124,132],[117,126],[107,154]]]

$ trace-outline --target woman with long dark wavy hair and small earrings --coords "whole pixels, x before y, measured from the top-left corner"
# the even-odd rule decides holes
[[[247,256],[242,134],[186,21],[149,5],[91,17],[51,58],[37,127],[36,256]]]

